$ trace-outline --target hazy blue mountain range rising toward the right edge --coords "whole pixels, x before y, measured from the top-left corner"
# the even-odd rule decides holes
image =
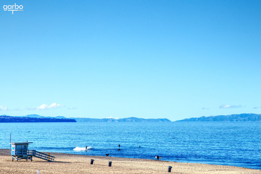
[[[261,114],[242,113],[232,115],[217,115],[209,117],[186,118],[177,122],[242,122],[242,121],[261,121]]]

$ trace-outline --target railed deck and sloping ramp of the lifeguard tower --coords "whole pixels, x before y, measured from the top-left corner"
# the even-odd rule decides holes
[[[48,155],[48,154],[45,154],[45,153],[41,153],[41,152],[38,152],[36,150],[15,150],[14,151],[14,155],[13,157],[16,156],[16,160],[19,160],[19,158],[21,159],[31,159],[30,157],[37,157],[37,158],[41,158],[41,159],[44,159],[44,160],[47,160],[47,161],[54,161],[54,156],[51,156],[51,155]],[[18,157],[18,158],[17,158]]]

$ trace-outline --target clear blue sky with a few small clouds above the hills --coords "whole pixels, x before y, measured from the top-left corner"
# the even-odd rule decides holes
[[[15,3],[23,11],[4,10]],[[260,9],[261,1],[1,1],[0,115],[261,113]]]

